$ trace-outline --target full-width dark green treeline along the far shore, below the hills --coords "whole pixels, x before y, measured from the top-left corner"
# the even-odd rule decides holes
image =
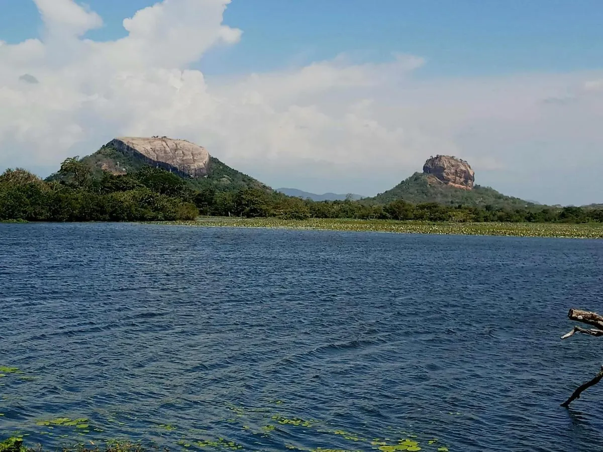
[[[311,201],[256,188],[199,190],[163,169],[143,167],[126,175],[100,177],[86,163],[67,159],[57,174],[43,181],[22,169],[0,175],[0,221],[174,221],[199,215],[277,217],[283,219],[353,218],[453,222],[603,222],[603,209],[531,206],[387,204],[361,201]]]

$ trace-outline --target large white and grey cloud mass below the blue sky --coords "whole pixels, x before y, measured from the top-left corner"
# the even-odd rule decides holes
[[[244,36],[223,23],[230,0],[157,2],[109,42],[85,39],[103,20],[77,2],[34,1],[42,37],[0,42],[0,167],[47,174],[115,136],[167,135],[273,186],[371,195],[445,153],[524,198],[601,192],[598,173],[584,183],[603,165],[601,73],[421,80],[415,55],[339,55],[208,83],[195,63]]]

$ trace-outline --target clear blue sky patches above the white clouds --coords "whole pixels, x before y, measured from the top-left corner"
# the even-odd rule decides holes
[[[110,40],[127,34],[125,17],[154,2],[84,3],[105,22],[87,36]],[[32,1],[0,0],[0,11],[0,39],[39,35]],[[207,74],[279,69],[341,52],[369,60],[421,55],[429,61],[423,74],[433,77],[596,69],[603,61],[600,0],[234,0],[224,21],[244,39],[206,55]]]

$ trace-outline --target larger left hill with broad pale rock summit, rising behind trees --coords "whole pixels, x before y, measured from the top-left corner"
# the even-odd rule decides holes
[[[213,187],[216,191],[231,191],[250,187],[273,191],[209,155],[201,146],[167,137],[114,139],[81,162],[87,163],[98,176],[104,171],[128,174],[143,166],[158,166],[180,175],[197,189]],[[55,175],[49,179],[53,177]]]

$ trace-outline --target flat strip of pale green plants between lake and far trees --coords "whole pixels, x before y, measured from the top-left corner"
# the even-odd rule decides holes
[[[243,227],[324,231],[372,231],[406,234],[479,235],[603,239],[602,223],[456,223],[393,220],[201,217],[194,221],[162,222],[196,227]]]

